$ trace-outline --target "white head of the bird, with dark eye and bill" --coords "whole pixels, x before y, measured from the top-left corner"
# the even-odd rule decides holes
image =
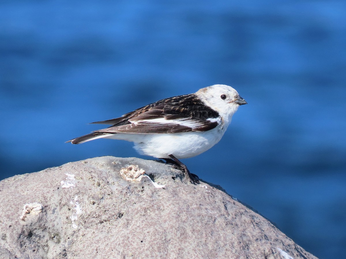
[[[212,85],[198,90],[196,95],[208,106],[217,111],[228,125],[239,105],[247,102],[228,85]]]

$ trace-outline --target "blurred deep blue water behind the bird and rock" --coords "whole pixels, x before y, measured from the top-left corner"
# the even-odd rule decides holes
[[[346,253],[345,1],[2,1],[0,179],[124,141],[88,125],[212,84],[240,106],[183,162],[320,258]]]

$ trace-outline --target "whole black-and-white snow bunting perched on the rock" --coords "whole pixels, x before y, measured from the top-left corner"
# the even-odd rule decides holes
[[[135,149],[177,165],[199,183],[179,159],[207,151],[224,135],[239,105],[247,102],[227,85],[212,85],[194,94],[166,98],[119,118],[93,122],[112,126],[67,141],[72,144],[113,138],[134,142]]]

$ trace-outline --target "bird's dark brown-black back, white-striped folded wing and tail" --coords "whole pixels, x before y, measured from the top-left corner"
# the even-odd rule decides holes
[[[202,132],[215,128],[221,123],[221,118],[218,112],[204,105],[195,94],[188,94],[157,101],[119,118],[93,123],[112,126],[74,138],[69,142],[79,144],[116,133]]]

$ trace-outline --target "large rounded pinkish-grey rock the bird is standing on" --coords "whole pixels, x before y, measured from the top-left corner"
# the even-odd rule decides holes
[[[3,258],[316,258],[160,161],[106,156],[16,175],[0,182],[0,202]]]

